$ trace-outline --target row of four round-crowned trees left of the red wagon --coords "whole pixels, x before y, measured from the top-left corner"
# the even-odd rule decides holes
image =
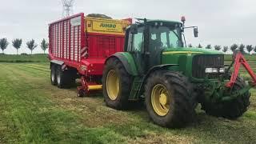
[[[12,46],[16,49],[16,52],[18,54],[18,49],[22,46],[22,39],[15,38],[12,42]],[[4,50],[7,49],[7,46],[10,43],[7,41],[7,38],[1,38],[0,39],[0,49],[2,50],[2,54],[4,54]],[[43,38],[41,42],[41,49],[43,50],[44,54],[46,54],[46,50],[48,49],[49,43],[46,42],[46,40]],[[31,54],[33,54],[33,50],[38,47],[38,44],[34,41],[34,39],[31,39],[30,41],[26,42],[26,47],[31,51]]]

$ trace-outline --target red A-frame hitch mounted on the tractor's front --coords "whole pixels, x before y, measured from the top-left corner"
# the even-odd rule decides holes
[[[249,82],[250,86],[256,86],[256,74],[254,74],[254,71],[251,69],[250,65],[246,61],[246,58],[242,55],[241,52],[238,52],[238,54],[235,55],[234,58],[234,72],[231,75],[230,82],[226,83],[226,87],[233,87],[234,83],[236,82],[238,78],[238,73],[240,70],[240,66],[244,66],[246,71],[250,74],[250,77],[252,78],[252,82]]]

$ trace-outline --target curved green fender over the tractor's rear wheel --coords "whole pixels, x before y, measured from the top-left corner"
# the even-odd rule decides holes
[[[109,58],[106,58],[105,64],[110,58],[118,58],[118,60],[122,62],[128,74],[132,76],[138,75],[138,70],[136,68],[134,58],[131,54],[126,52],[118,52],[116,54],[111,55]]]

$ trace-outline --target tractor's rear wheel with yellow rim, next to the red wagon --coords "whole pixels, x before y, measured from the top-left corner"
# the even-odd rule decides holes
[[[106,106],[117,110],[124,110],[128,105],[128,98],[132,85],[132,78],[126,72],[122,62],[117,58],[110,58],[103,71],[103,95]]]

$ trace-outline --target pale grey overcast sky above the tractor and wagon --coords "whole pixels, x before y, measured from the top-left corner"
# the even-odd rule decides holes
[[[22,38],[22,53],[30,53],[26,41],[34,38],[42,53],[42,38],[48,37],[48,24],[62,18],[62,0],[1,0],[0,38]],[[100,13],[112,18],[151,18],[179,21],[198,26],[199,37],[186,30],[187,43],[203,46],[244,43],[256,46],[255,0],[75,0],[74,14]],[[16,50],[8,46],[7,54]]]

